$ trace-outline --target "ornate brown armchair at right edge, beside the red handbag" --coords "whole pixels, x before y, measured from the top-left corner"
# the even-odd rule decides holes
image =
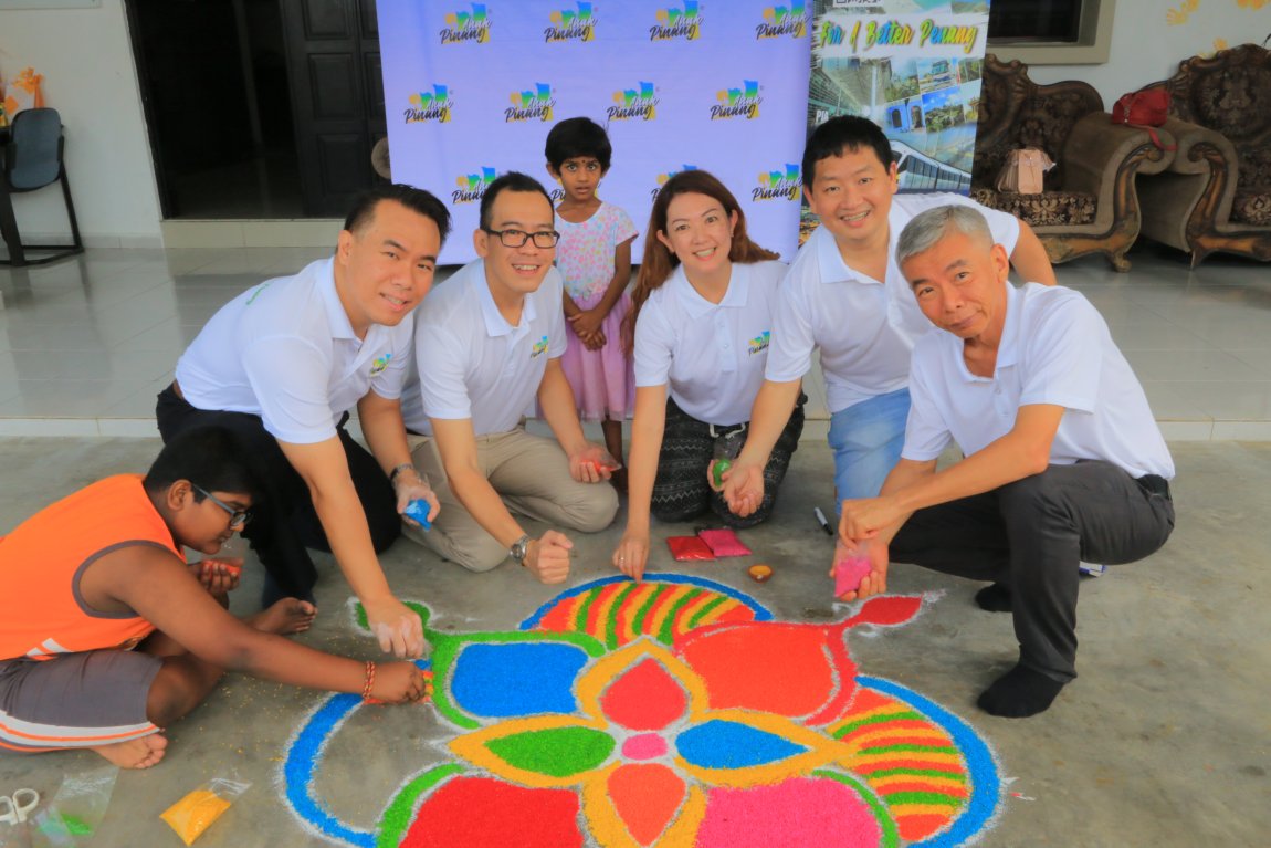
[[[1168,89],[1169,168],[1139,182],[1143,234],[1191,253],[1271,261],[1271,52],[1256,44],[1192,57]]]

